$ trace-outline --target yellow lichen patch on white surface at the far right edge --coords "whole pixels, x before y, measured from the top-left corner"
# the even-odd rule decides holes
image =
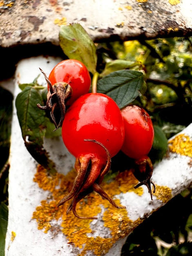
[[[169,141],[169,149],[173,153],[192,157],[192,140],[187,135],[179,134]]]

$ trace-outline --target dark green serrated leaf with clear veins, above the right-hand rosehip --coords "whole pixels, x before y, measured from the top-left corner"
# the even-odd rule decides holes
[[[143,73],[135,70],[112,72],[98,80],[97,92],[107,94],[124,108],[134,101],[143,87]]]

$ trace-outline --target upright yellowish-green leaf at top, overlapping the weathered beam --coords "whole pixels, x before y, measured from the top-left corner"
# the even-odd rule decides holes
[[[60,47],[68,58],[81,61],[92,74],[96,72],[96,46],[80,24],[62,25],[59,41]]]

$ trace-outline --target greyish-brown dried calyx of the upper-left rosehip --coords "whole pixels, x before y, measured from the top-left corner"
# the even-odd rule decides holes
[[[45,80],[49,85],[49,91],[47,93],[46,106],[41,106],[39,103],[37,106],[41,110],[50,110],[51,119],[55,124],[55,130],[57,130],[63,124],[65,103],[71,98],[73,90],[68,83],[60,82],[52,85],[45,72],[42,69],[40,71],[45,76]]]

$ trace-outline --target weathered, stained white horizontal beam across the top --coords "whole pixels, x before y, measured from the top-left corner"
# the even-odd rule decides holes
[[[188,0],[32,0],[0,4],[0,45],[51,42],[59,25],[80,23],[93,40],[189,36]]]

